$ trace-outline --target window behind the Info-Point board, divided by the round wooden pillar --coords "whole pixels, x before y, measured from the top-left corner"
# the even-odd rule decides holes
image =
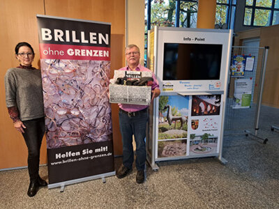
[[[216,0],[216,3],[216,24],[233,29],[236,0]],[[197,27],[198,0],[145,0],[145,8],[145,49],[147,31],[154,26]]]

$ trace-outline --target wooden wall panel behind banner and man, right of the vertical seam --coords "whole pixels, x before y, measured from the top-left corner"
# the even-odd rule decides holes
[[[82,20],[110,22],[111,27],[111,77],[114,70],[125,65],[125,0],[45,0],[45,15]],[[112,105],[114,155],[122,155],[118,107]]]

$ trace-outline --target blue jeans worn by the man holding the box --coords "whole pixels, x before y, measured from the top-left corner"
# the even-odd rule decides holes
[[[136,116],[128,116],[119,110],[119,125],[122,135],[123,143],[123,165],[129,169],[132,169],[134,162],[134,150],[133,150],[133,135],[135,137],[136,144],[136,161],[135,166],[137,171],[143,171],[145,169],[146,161],[146,123],[148,120],[147,109],[140,111]]]

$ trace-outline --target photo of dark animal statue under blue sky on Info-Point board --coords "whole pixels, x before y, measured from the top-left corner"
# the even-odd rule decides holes
[[[162,95],[159,98],[158,139],[186,139],[189,97]]]

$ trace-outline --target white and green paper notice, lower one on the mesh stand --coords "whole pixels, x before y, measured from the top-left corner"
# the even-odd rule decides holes
[[[252,98],[252,79],[234,80],[234,105],[232,108],[250,108]]]

